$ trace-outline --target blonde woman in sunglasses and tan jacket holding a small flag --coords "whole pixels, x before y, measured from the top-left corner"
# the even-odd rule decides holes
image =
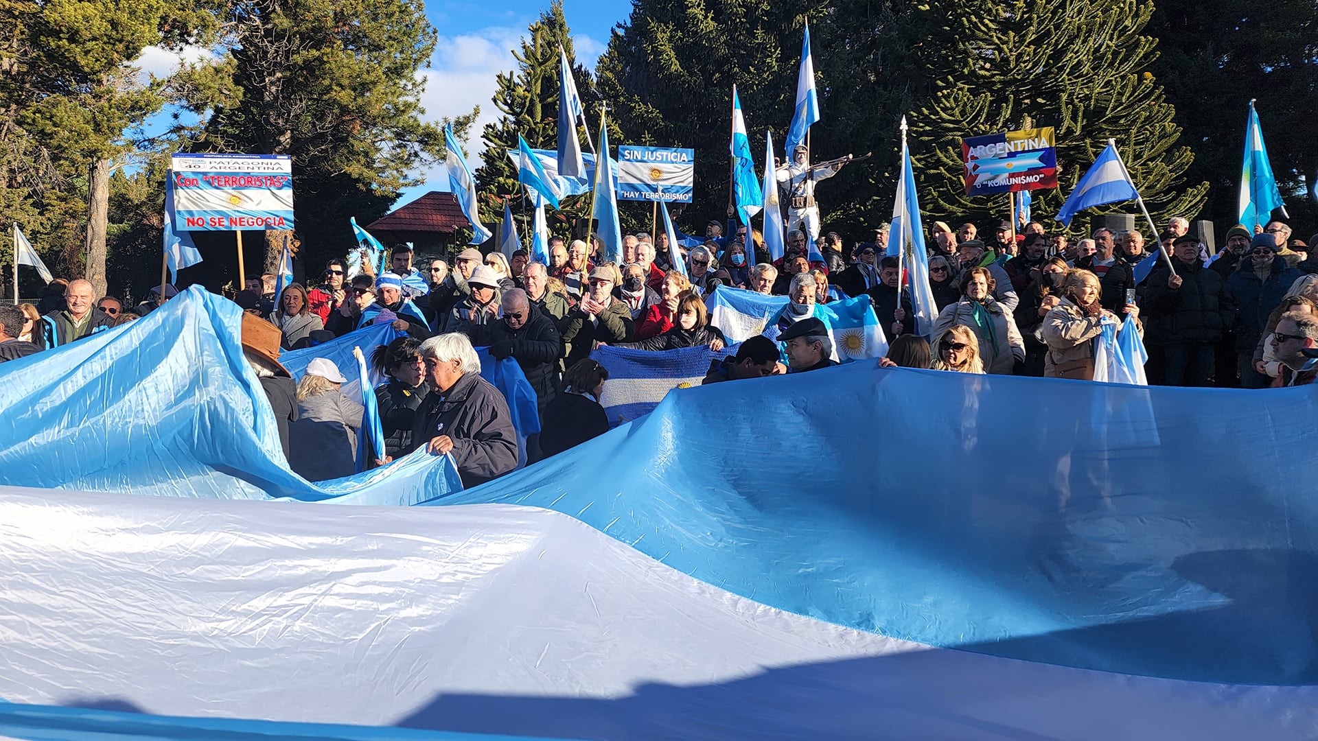
[[[1043,339],[1048,344],[1044,376],[1093,381],[1094,340],[1104,323],[1120,323],[1120,318],[1103,309],[1103,286],[1094,273],[1077,268],[1066,274],[1064,286],[1061,301],[1044,316]],[[1143,335],[1139,307],[1127,303],[1123,309]]]

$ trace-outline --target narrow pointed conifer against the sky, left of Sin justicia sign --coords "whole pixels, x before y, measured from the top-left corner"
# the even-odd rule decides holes
[[[572,65],[577,92],[583,103],[593,98],[593,80],[589,71],[576,63],[572,49],[572,30],[563,15],[561,0],[555,0],[548,11],[530,25],[522,38],[519,50],[513,51],[517,69],[500,73],[498,90],[494,92],[494,107],[503,116],[485,124],[481,138],[485,141],[484,163],[476,170],[480,187],[481,222],[486,225],[503,220],[503,202],[513,200],[514,220],[518,222],[518,235],[522,241],[530,241],[532,203],[525,196],[523,187],[517,182],[517,166],[507,153],[517,153],[518,134],[526,137],[532,149],[555,149],[558,146],[559,121],[559,46],[563,46]],[[585,131],[577,127],[577,136]],[[596,134],[592,134],[592,140]],[[580,138],[583,152],[589,152],[585,138]],[[589,194],[569,196],[559,202],[563,208],[547,207],[550,231],[565,235],[576,219],[590,215]],[[492,229],[493,231],[493,229]]]

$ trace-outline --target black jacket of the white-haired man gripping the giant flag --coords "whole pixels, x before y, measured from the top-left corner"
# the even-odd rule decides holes
[[[517,468],[513,415],[503,394],[480,373],[467,373],[448,393],[430,392],[418,411],[411,448],[448,435],[453,440],[452,456],[464,488],[498,479]]]

